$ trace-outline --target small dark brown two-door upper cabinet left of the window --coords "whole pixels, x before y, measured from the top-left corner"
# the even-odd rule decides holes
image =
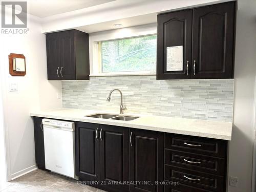
[[[89,35],[78,30],[46,34],[48,80],[89,79]]]

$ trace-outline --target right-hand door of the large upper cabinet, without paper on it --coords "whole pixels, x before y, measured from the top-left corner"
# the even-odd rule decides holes
[[[233,78],[234,4],[194,9],[192,78]]]

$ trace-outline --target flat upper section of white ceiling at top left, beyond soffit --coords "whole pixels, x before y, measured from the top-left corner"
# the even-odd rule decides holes
[[[28,0],[28,13],[47,17],[78,9],[88,8],[115,0]]]

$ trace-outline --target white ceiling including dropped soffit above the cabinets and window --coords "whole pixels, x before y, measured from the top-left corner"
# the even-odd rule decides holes
[[[42,32],[78,29],[87,33],[157,22],[169,10],[230,0],[27,0],[28,13],[41,17]]]

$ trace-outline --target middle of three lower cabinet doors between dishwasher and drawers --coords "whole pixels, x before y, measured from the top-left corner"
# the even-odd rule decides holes
[[[100,180],[109,191],[129,191],[129,129],[100,125]],[[118,182],[118,183],[115,183]]]

